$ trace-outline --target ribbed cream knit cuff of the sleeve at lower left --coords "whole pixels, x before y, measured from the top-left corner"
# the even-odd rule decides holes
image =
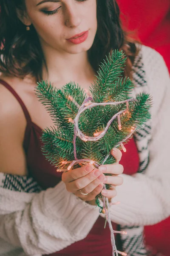
[[[99,217],[98,206],[90,205],[68,192],[62,181],[42,193],[40,200],[44,214],[53,220],[59,219],[75,240],[85,238]]]

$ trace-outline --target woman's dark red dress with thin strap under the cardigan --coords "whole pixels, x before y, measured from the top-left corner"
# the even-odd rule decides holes
[[[56,171],[54,166],[45,159],[42,154],[42,142],[40,137],[42,129],[31,121],[31,117],[23,101],[6,82],[0,80],[16,97],[26,116],[27,126],[23,147],[26,153],[26,162],[29,174],[42,186],[43,189],[56,186],[61,181],[62,173]],[[139,168],[139,156],[135,141],[131,139],[126,145],[127,152],[122,154],[120,163],[124,166],[124,173],[132,175]],[[88,236],[61,251],[50,254],[51,256],[111,256],[111,234],[108,225],[104,229],[105,219],[99,216]],[[117,230],[117,224],[112,223],[113,229]]]

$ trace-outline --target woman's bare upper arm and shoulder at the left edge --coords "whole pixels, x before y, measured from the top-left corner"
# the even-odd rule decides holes
[[[11,78],[1,75],[0,79],[14,87]],[[26,175],[25,128],[26,119],[19,102],[0,84],[0,172]]]

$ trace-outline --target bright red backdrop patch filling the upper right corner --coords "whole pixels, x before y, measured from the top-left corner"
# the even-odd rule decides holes
[[[170,71],[170,0],[118,0],[122,23],[156,49]]]

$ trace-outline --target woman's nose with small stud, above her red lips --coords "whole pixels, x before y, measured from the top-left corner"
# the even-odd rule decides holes
[[[68,3],[65,15],[65,25],[68,27],[77,27],[82,22],[81,12],[76,3]]]

